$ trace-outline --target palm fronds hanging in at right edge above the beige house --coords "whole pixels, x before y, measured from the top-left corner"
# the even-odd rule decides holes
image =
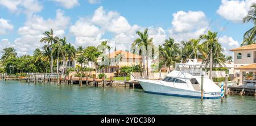
[[[243,23],[246,22],[253,22],[254,27],[251,28],[250,30],[246,31],[245,34],[243,35],[243,45],[249,45],[249,44],[254,44],[255,43],[255,35],[256,35],[256,4],[254,3],[251,6],[251,10],[248,11],[248,14],[243,18]]]

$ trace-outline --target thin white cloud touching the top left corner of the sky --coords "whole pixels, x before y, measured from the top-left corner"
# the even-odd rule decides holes
[[[43,9],[38,0],[1,0],[0,5],[6,7],[11,12],[20,13],[30,16]]]

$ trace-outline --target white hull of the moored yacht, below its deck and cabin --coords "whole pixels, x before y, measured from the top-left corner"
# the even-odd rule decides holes
[[[178,87],[166,86],[166,85],[150,83],[150,82],[146,82],[146,81],[139,81],[139,83],[146,93],[172,95],[172,96],[183,96],[183,97],[190,97],[190,98],[201,98],[200,91],[180,89]],[[221,92],[216,91],[213,93],[204,93],[203,98],[204,99],[221,98]]]

